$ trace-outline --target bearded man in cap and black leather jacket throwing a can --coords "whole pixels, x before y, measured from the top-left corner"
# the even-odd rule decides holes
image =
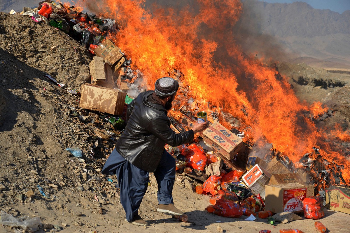
[[[164,146],[192,142],[194,134],[206,129],[209,122],[196,123],[191,130],[180,134],[170,129],[167,111],[172,108],[178,89],[177,81],[163,77],[156,81],[154,91],[140,93],[130,103],[125,131],[102,170],[103,174],[117,174],[120,203],[126,221],[134,225],[148,225],[138,215],[138,210],[147,190],[149,172],[154,173],[158,183],[157,211],[183,214],[173,204],[175,159]]]

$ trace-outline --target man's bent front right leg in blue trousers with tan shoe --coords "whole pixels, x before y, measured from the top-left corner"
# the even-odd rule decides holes
[[[162,159],[154,172],[158,183],[158,209],[159,212],[182,215],[183,212],[173,205],[173,187],[175,182],[175,159],[164,150]]]

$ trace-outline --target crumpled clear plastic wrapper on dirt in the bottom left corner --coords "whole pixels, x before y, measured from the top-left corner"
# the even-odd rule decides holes
[[[40,218],[34,217],[29,219],[29,217],[15,218],[12,215],[8,215],[6,212],[1,211],[0,223],[4,226],[10,227],[20,227],[25,231],[34,232],[39,230],[41,226]]]

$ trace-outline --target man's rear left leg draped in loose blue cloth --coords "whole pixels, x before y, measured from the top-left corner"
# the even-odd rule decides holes
[[[116,164],[120,203],[125,210],[126,220],[138,220],[135,217],[139,218],[138,211],[147,190],[149,173],[129,163],[115,149],[110,156],[113,156],[113,163]]]

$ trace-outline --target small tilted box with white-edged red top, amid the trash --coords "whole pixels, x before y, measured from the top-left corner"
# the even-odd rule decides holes
[[[260,194],[265,198],[265,185],[269,182],[271,175],[255,164],[247,173],[242,176],[242,180],[254,194]]]

